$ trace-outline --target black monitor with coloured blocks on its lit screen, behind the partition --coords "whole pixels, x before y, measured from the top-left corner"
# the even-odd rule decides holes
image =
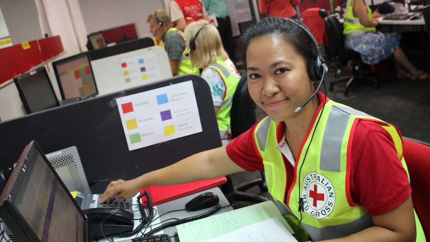
[[[98,94],[88,52],[52,62],[63,100],[79,97],[84,100]]]

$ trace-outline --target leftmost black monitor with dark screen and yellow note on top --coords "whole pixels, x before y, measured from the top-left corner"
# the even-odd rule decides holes
[[[27,114],[59,106],[44,66],[13,78]]]

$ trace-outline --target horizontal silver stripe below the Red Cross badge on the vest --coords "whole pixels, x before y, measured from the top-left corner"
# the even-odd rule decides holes
[[[365,214],[361,218],[351,223],[327,226],[324,228],[316,228],[307,224],[303,224],[305,230],[309,235],[311,235],[312,241],[332,240],[349,236],[359,231],[363,231],[371,226],[373,226],[373,220],[372,216],[369,214]]]

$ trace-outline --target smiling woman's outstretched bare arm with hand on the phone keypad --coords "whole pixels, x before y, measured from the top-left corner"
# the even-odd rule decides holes
[[[227,156],[225,146],[204,151],[185,158],[168,167],[152,171],[129,181],[111,182],[99,200],[104,203],[118,196],[128,199],[142,188],[149,186],[169,186],[214,179],[244,171]]]

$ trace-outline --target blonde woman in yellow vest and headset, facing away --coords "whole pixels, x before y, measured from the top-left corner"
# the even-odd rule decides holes
[[[240,74],[222,47],[218,30],[201,19],[188,24],[185,37],[193,67],[202,68],[201,76],[211,88],[222,144],[231,141],[230,110]]]

